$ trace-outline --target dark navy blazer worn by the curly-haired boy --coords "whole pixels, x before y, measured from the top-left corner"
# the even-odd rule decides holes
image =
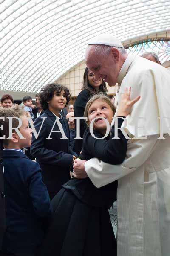
[[[69,154],[71,153],[69,150],[70,133],[67,120],[63,117],[67,132],[65,135],[68,139],[61,139],[62,134],[60,132],[52,132],[52,139],[46,139],[53,128],[56,117],[47,109],[45,113],[39,116],[34,122],[34,127],[37,132],[40,130],[43,117],[45,117],[45,121],[38,138],[36,139],[33,135],[30,151],[40,164],[43,181],[52,199],[61,189],[62,184],[70,179],[70,166],[72,165],[73,154]],[[59,131],[57,122],[54,125],[53,131]]]

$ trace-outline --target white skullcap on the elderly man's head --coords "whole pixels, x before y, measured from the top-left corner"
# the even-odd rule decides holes
[[[88,41],[88,45],[89,44],[105,44],[109,46],[124,48],[119,39],[110,34],[97,35]]]

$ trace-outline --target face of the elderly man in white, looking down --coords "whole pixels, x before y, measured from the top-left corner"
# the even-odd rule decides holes
[[[119,55],[119,51],[115,53]],[[119,58],[116,54],[114,55],[111,51],[104,57],[103,55],[96,54],[92,46],[86,55],[86,65],[88,69],[94,72],[94,76],[97,80],[102,78],[109,86],[116,85],[117,77],[119,75]]]

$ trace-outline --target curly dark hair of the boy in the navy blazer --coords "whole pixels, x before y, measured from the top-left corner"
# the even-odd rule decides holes
[[[43,110],[48,109],[47,102],[53,98],[54,93],[61,93],[63,90],[65,92],[65,96],[67,99],[67,105],[71,98],[70,92],[67,87],[55,83],[47,84],[44,87],[42,87],[42,89],[40,90],[40,104]]]

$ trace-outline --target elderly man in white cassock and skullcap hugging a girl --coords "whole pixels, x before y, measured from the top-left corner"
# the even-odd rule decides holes
[[[128,55],[111,35],[99,35],[88,43],[85,62],[96,79],[102,77],[109,86],[118,83],[117,109],[125,87],[131,87],[131,99],[139,95],[141,99],[126,117],[130,139],[122,165],[97,158],[75,160],[74,176],[88,175],[96,187],[118,180],[118,256],[169,256],[170,72]]]

